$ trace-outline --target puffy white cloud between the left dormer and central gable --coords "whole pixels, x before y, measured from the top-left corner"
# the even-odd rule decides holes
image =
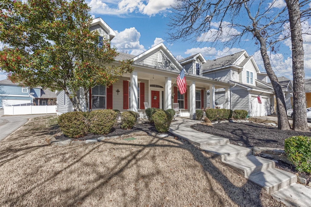
[[[135,27],[131,27],[121,32],[116,31],[116,36],[111,41],[111,44],[116,46],[118,51],[131,51],[131,54],[136,54],[137,51],[146,51],[144,46],[140,44],[139,39],[140,33],[135,29]]]

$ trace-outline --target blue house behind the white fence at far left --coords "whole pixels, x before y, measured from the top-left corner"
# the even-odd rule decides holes
[[[0,81],[1,108],[17,104],[47,105],[51,99],[56,100],[56,94],[48,89],[21,87],[8,79]]]

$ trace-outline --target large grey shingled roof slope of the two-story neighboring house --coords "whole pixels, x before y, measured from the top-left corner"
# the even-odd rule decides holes
[[[241,57],[246,51],[243,50],[238,53],[227,55],[225,57],[217,58],[215,60],[207,60],[204,65],[202,65],[202,71],[208,71],[211,69],[227,67],[233,65],[239,57]]]

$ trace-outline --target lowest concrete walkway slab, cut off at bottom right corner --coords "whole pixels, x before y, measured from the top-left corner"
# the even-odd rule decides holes
[[[311,188],[294,183],[272,194],[272,197],[286,206],[310,207]]]

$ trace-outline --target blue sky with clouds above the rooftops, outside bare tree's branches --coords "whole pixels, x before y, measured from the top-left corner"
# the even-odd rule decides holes
[[[217,44],[212,46],[208,40],[202,43],[168,41],[169,15],[174,0],[86,0],[91,7],[93,17],[101,17],[114,31],[116,36],[112,44],[118,51],[138,55],[152,46],[163,42],[171,53],[182,59],[201,52],[205,59],[220,58],[225,55],[246,50],[248,55],[253,55],[259,68],[263,68],[259,48],[254,41],[245,40],[243,45],[234,45],[224,48]],[[267,3],[272,2],[267,1]],[[274,0],[275,7],[284,7],[284,0]],[[217,22],[213,22],[215,28]],[[311,23],[310,23],[311,24]],[[303,28],[309,28],[305,21]],[[225,29],[225,28],[224,28]],[[238,31],[227,30],[226,34]],[[305,77],[311,78],[311,37],[304,35],[304,67]],[[271,54],[272,66],[276,76],[285,76],[292,79],[290,41],[284,41],[276,54]],[[265,72],[264,69],[261,71]],[[0,80],[6,76],[0,73]]]

